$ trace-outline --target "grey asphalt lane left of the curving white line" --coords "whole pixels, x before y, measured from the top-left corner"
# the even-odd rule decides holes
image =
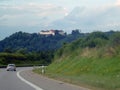
[[[23,68],[19,68],[21,70]],[[17,71],[0,69],[0,90],[35,90],[17,77]]]

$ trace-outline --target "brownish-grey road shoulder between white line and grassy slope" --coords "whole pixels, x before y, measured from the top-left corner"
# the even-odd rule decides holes
[[[27,81],[43,88],[43,90],[89,90],[87,88],[41,76],[32,72],[32,70],[22,71],[20,75]]]

